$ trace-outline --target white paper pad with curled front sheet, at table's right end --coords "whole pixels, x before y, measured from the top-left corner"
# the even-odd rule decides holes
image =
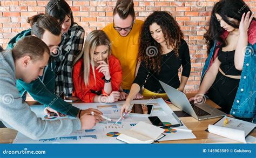
[[[227,122],[225,123],[225,120]],[[246,143],[245,137],[256,127],[254,123],[238,120],[225,116],[214,125],[208,126],[208,131],[224,136],[228,139]]]

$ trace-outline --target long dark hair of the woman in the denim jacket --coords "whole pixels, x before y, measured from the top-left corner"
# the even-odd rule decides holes
[[[207,44],[207,54],[210,53],[211,47],[216,41],[220,43],[219,47],[225,47],[227,45],[227,42],[221,38],[221,35],[223,35],[225,30],[221,28],[215,13],[218,13],[218,15],[220,15],[228,25],[238,29],[242,19],[242,14],[247,13],[248,11],[250,11],[251,16],[252,11],[250,10],[249,6],[242,0],[221,0],[213,6],[209,27],[207,32],[204,34],[204,38],[206,39]],[[237,22],[230,20],[229,18],[233,18],[237,20]],[[255,18],[253,18],[253,20],[255,20]]]

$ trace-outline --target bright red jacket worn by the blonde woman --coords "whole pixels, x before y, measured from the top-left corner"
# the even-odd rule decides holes
[[[84,84],[83,63],[83,59],[80,59],[73,67],[73,84],[75,88],[73,95],[84,102],[93,102],[93,98],[95,95],[97,95],[95,91],[101,91],[103,95],[106,95],[103,90],[105,84],[103,79],[104,75],[103,73],[99,73],[98,70],[95,70],[95,81],[92,73],[92,67],[90,66],[89,85],[86,87]],[[109,57],[109,71],[111,76],[112,91],[119,91],[119,87],[122,83],[122,68],[120,61],[114,56]]]

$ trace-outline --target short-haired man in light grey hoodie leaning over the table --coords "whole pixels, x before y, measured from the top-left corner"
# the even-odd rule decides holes
[[[55,138],[79,129],[91,129],[102,118],[81,115],[76,119],[46,121],[37,118],[28,104],[22,101],[16,80],[26,83],[43,74],[50,50],[39,38],[28,36],[19,40],[12,50],[0,51],[0,120],[31,139]]]

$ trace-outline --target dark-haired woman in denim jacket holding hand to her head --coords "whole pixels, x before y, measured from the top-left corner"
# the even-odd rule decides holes
[[[205,33],[208,58],[195,104],[206,94],[224,112],[251,121],[255,117],[256,22],[241,0],[213,7]]]

